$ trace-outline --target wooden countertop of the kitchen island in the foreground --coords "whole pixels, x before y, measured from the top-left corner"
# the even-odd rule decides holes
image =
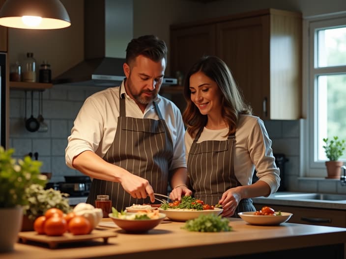
[[[103,219],[109,221],[110,219]],[[231,219],[231,232],[198,233],[182,230],[184,223],[160,224],[145,234],[128,234],[121,229],[108,244],[97,242],[74,243],[50,249],[46,244],[15,244],[11,253],[0,259],[51,258],[210,258],[266,251],[279,251],[311,246],[346,243],[346,229],[283,223],[279,226],[253,226],[240,219]],[[344,252],[343,252],[344,253]]]

